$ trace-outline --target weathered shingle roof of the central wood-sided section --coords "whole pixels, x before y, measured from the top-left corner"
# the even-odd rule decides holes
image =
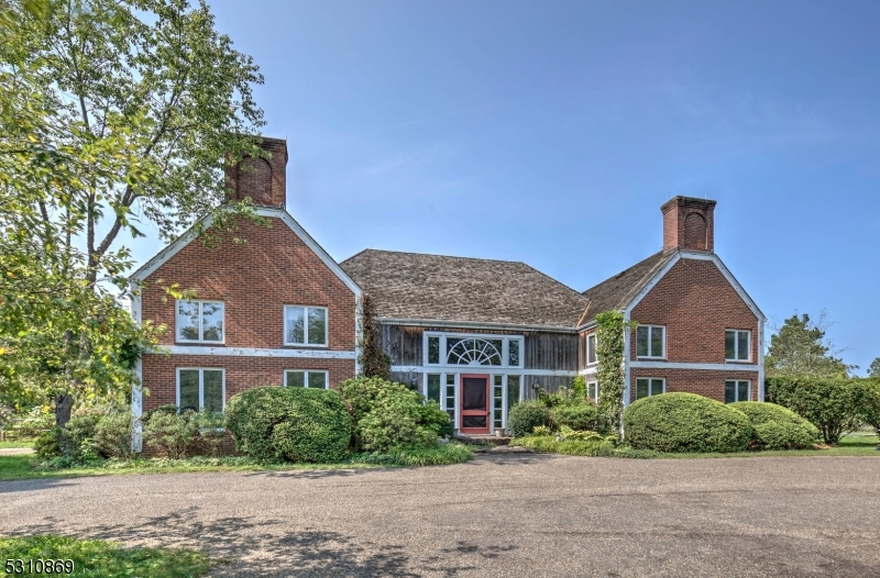
[[[340,265],[383,319],[574,329],[587,303],[518,262],[366,249]]]

